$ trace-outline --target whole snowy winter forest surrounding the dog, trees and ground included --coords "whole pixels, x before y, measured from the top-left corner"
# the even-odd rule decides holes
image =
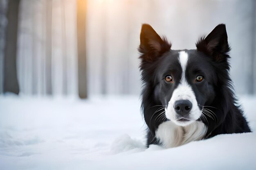
[[[144,23],[174,50],[226,24],[252,133],[145,147]],[[255,0],[0,0],[1,170],[255,169],[255,104]]]

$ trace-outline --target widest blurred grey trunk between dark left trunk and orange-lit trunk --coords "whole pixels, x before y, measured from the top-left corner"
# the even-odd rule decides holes
[[[46,0],[46,94],[52,94],[52,0]]]

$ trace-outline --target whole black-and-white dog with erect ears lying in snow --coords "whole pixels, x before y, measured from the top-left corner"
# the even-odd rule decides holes
[[[251,132],[229,76],[225,24],[200,37],[196,50],[172,50],[148,24],[140,34],[141,108],[147,146],[180,146],[218,134]]]

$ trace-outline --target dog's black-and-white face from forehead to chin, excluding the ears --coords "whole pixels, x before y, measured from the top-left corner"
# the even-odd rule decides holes
[[[214,98],[214,72],[196,50],[171,50],[156,67],[155,94],[166,105],[166,118],[180,126],[199,120],[202,106]]]

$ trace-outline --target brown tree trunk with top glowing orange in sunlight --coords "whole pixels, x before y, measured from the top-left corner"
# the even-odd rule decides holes
[[[78,90],[80,98],[87,98],[85,18],[86,0],[76,1],[77,10],[77,54],[78,54]]]

